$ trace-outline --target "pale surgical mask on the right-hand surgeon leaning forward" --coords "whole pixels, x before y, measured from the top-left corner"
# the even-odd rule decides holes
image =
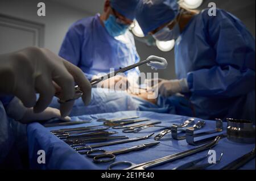
[[[174,28],[170,30],[168,27],[162,28],[162,30],[159,30],[154,35],[154,39],[159,41],[170,41],[170,40],[176,40],[177,37],[180,35],[180,27],[179,23],[176,23]]]

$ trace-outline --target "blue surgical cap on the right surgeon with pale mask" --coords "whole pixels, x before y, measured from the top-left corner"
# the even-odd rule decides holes
[[[177,0],[142,0],[137,6],[136,19],[144,35],[174,20],[179,13]]]

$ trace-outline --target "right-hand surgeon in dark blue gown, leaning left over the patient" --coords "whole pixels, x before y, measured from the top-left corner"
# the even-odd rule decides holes
[[[160,81],[162,97],[185,95],[195,116],[255,121],[255,39],[234,15],[187,10],[176,0],[141,1],[137,20],[144,35],[175,41],[177,79]],[[212,12],[212,11],[210,11]],[[178,98],[180,99],[180,98]],[[188,115],[191,116],[191,115]]]

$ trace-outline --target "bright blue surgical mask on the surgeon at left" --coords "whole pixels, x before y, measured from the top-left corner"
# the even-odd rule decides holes
[[[104,21],[104,25],[109,32],[109,35],[113,37],[123,35],[129,28],[129,25],[118,23],[117,19],[112,14],[110,14],[109,18]]]

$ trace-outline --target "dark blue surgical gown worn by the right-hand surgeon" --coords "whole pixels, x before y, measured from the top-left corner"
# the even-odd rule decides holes
[[[255,39],[235,16],[193,17],[176,40],[175,70],[197,117],[255,120]]]

